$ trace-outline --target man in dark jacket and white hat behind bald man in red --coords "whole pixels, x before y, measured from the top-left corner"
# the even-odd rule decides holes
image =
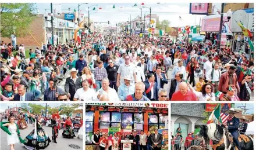
[[[169,99],[172,99],[172,94],[179,90],[179,83],[185,82],[183,78],[183,74],[181,72],[177,72],[175,78],[171,79],[170,81],[170,92],[169,92]]]

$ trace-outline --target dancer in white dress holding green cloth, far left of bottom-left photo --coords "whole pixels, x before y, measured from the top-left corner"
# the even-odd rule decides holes
[[[5,131],[7,135],[7,144],[10,145],[10,150],[15,150],[16,143],[23,143],[24,141],[20,137],[20,131],[18,125],[15,123],[15,118],[11,116],[9,122],[1,122],[1,129]]]

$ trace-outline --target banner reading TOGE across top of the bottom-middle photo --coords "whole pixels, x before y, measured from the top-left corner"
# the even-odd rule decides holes
[[[88,103],[86,105],[106,105],[115,107],[148,107],[148,108],[168,108],[165,103]]]

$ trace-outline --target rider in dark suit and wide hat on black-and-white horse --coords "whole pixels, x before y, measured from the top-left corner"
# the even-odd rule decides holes
[[[234,114],[239,113],[235,111],[234,108],[230,108],[228,111],[225,111],[225,114],[229,114],[229,119],[227,119],[227,123],[221,125],[225,127],[233,136],[233,141],[236,144],[237,149],[241,150],[240,142],[238,140],[238,128],[239,128],[239,119],[234,116]]]

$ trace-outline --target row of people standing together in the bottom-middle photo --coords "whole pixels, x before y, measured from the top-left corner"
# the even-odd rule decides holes
[[[123,149],[121,140],[133,140],[132,149],[133,150],[160,150],[162,148],[163,136],[158,133],[158,129],[154,129],[152,134],[150,131],[144,133],[140,131],[140,134],[136,130],[130,134],[125,135],[125,133],[102,133],[102,131],[97,130],[95,134],[91,137],[93,141],[93,150],[118,150]]]

